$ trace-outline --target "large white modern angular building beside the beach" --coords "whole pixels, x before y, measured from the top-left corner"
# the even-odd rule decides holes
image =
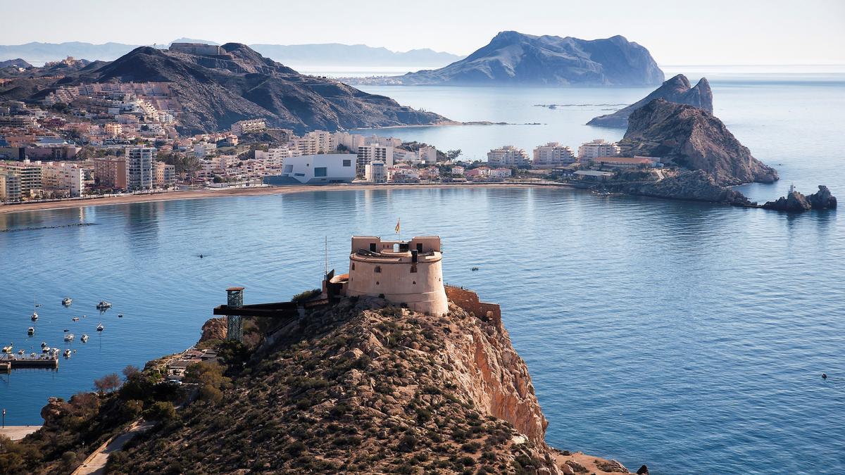
[[[355,179],[352,154],[292,156],[285,160],[281,175],[265,177],[267,184],[352,183]]]

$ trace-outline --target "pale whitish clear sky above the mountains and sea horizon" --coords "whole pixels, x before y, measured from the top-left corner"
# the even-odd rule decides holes
[[[845,64],[845,0],[0,0],[0,44],[346,43],[469,54],[502,30],[623,35],[660,64]]]

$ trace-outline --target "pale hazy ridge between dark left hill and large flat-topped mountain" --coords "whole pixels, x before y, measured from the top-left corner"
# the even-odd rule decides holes
[[[431,49],[392,52],[366,45],[250,45],[255,51],[276,61],[308,66],[426,66],[449,64],[461,56]]]

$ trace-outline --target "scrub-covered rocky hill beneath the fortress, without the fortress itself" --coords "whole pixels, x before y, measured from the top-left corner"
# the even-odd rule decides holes
[[[268,341],[230,366],[231,385],[213,407],[190,404],[179,423],[151,430],[117,472],[552,475],[576,456],[596,473],[627,472],[549,448],[548,422],[507,331],[454,303],[433,317],[383,299],[343,299]]]

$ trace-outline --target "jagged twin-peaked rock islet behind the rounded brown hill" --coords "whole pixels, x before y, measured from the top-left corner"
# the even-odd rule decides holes
[[[672,79],[668,79],[651,94],[636,101],[630,106],[619,109],[599,117],[593,117],[587,125],[596,125],[599,127],[613,127],[613,128],[627,128],[628,116],[631,112],[645,106],[655,99],[665,99],[669,102],[677,102],[678,104],[689,104],[690,106],[701,107],[707,112],[713,113],[713,93],[710,90],[710,83],[706,78],[701,78],[695,87],[690,87],[690,79],[687,79],[684,74],[678,74]]]

